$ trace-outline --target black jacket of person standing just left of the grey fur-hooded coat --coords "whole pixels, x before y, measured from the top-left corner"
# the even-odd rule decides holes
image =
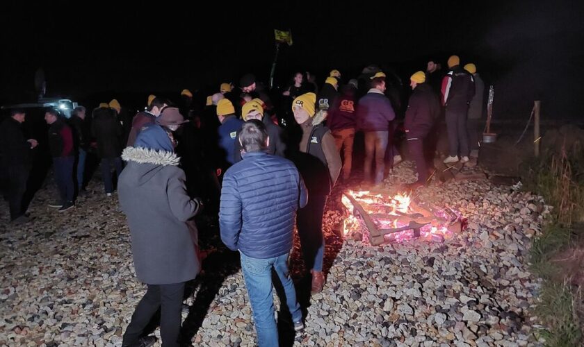
[[[91,135],[97,141],[99,158],[116,158],[122,154],[122,124],[112,108],[96,108],[93,111]]]

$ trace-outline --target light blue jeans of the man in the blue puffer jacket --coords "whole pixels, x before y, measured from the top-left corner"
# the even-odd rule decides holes
[[[272,269],[275,270],[286,294],[286,305],[292,314],[293,321],[302,320],[300,305],[296,300],[296,290],[288,271],[289,253],[268,259],[256,259],[241,255],[241,270],[245,287],[248,288],[257,339],[260,347],[278,346],[278,328],[274,318],[274,299],[272,286]]]

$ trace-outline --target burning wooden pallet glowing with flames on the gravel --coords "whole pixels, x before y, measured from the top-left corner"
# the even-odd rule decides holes
[[[373,246],[384,243],[386,235],[394,235],[397,239],[423,236],[444,240],[449,233],[462,229],[460,213],[430,203],[415,202],[402,194],[382,196],[349,191],[343,194],[342,201],[348,214],[343,223],[345,235],[351,232],[355,239],[361,239],[363,232],[359,229],[364,224]]]

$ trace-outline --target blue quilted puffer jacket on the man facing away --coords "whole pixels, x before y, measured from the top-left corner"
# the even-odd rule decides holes
[[[287,159],[263,152],[244,153],[223,178],[219,226],[232,251],[266,259],[292,249],[298,207],[307,203],[298,169]]]

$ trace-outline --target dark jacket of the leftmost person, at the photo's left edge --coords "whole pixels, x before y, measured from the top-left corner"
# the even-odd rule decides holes
[[[0,124],[0,153],[6,167],[31,166],[31,143],[26,140],[20,124],[13,117]]]

